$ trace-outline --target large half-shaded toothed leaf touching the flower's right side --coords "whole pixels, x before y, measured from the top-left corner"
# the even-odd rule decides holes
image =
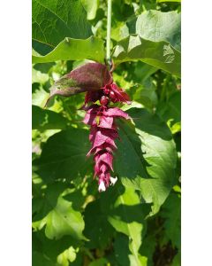
[[[135,127],[119,122],[115,172],[126,187],[140,190],[152,215],[168,197],[175,178],[177,153],[170,129],[145,109],[127,111]]]

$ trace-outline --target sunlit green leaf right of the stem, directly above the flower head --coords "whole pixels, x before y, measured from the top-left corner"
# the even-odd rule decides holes
[[[140,35],[129,35],[115,47],[115,63],[141,60],[148,65],[180,76],[180,52],[167,42],[152,42]]]

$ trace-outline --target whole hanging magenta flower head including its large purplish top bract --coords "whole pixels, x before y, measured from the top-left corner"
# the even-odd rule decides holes
[[[87,112],[84,123],[90,126],[89,140],[92,144],[87,156],[94,156],[94,176],[98,178],[99,192],[105,192],[110,184],[117,182],[117,177],[110,176],[113,153],[117,149],[116,120],[130,119],[127,113],[110,104],[131,102],[125,91],[113,82],[107,66],[99,63],[87,63],[65,74],[52,86],[50,98],[55,95],[68,97],[84,91],[86,97],[82,109]]]

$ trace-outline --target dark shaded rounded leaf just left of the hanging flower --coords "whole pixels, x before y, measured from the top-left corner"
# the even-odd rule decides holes
[[[92,166],[88,135],[85,129],[67,129],[49,137],[41,158],[34,161],[39,176],[47,183],[84,177]]]

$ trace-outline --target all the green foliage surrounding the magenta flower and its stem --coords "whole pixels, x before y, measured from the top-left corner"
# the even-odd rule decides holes
[[[180,265],[179,2],[112,1],[113,79],[133,100],[114,106],[133,120],[117,121],[117,183],[100,193],[85,93],[49,92],[104,64],[107,1],[33,0],[34,266]]]

